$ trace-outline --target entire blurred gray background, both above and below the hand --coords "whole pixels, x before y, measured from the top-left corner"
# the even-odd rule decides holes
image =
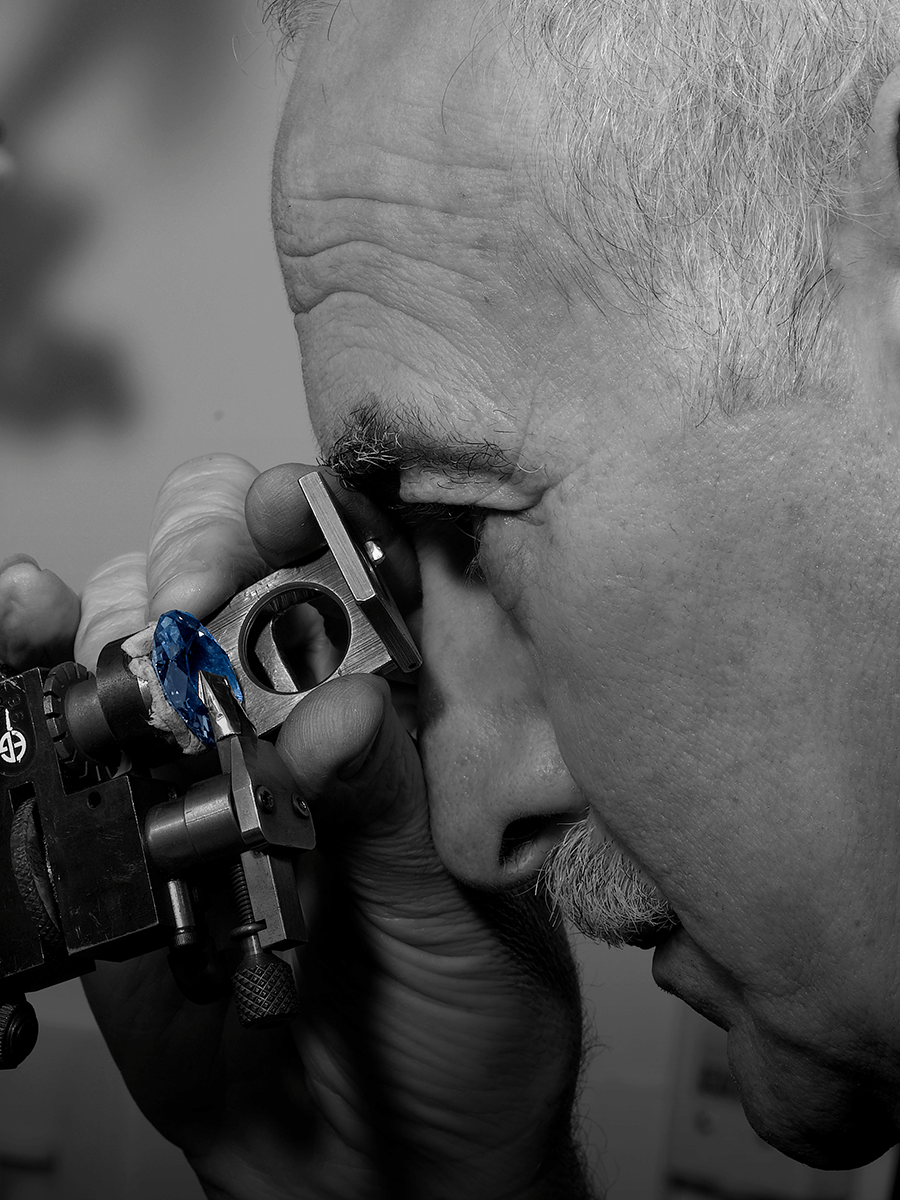
[[[314,456],[269,232],[287,79],[254,0],[0,0],[18,164],[0,194],[0,559],[80,587],[143,548],[184,458]],[[580,954],[583,1127],[612,1200],[887,1200],[889,1162],[823,1177],[750,1133],[721,1037],[655,989],[648,954]],[[79,986],[35,1003],[38,1049],[0,1076],[0,1200],[197,1198]]]

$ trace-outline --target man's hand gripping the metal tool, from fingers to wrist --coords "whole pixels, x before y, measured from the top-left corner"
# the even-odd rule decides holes
[[[65,618],[80,660],[92,666],[106,642],[167,608],[204,618],[313,550],[320,535],[296,486],[305,469],[256,478],[226,456],[179,468],[146,560],[108,564],[85,588],[79,628]],[[343,499],[352,521],[388,538],[365,502]],[[396,578],[402,590],[408,564]],[[0,576],[0,613],[7,583]],[[34,611],[32,653],[46,622]],[[277,744],[319,839],[301,864],[302,1013],[247,1031],[230,1001],[186,1001],[164,953],[100,964],[85,988],[140,1108],[211,1198],[587,1195],[571,1148],[581,1030],[562,930],[538,898],[475,894],[444,870],[415,743],[385,680],[322,685]]]

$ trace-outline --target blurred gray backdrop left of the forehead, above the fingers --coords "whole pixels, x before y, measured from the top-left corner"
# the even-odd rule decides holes
[[[0,0],[0,557],[78,587],[168,470],[310,452],[254,0]]]

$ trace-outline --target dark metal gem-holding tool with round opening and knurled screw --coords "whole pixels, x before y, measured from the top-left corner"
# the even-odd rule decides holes
[[[342,614],[346,650],[329,678],[413,671],[420,661],[322,475],[299,485],[326,550],[245,589],[208,625],[242,692],[241,706],[223,678],[200,672],[220,774],[185,792],[151,774],[180,756],[185,739],[172,732],[172,713],[168,722],[152,715],[158,689],[134,638],[104,647],[95,676],[68,662],[0,679],[0,1067],[18,1066],[35,1044],[25,992],[84,974],[98,959],[166,946],[192,1000],[233,991],[247,1026],[296,1013],[290,967],[272,952],[305,940],[294,865],[314,833],[262,736],[324,680],[302,685],[278,624],[306,602]],[[128,772],[119,769],[122,756]],[[216,930],[214,943],[203,889],[216,874],[221,884],[226,869],[234,928],[224,937]]]

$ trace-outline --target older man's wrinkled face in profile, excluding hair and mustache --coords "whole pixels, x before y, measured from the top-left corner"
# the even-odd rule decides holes
[[[900,689],[853,422],[810,397],[685,427],[646,319],[578,289],[508,37],[484,0],[344,0],[275,173],[325,452],[368,437],[402,502],[470,530],[415,535],[436,842],[521,883],[587,810],[677,913],[656,977],[730,1028],[757,1127],[875,1153]]]

